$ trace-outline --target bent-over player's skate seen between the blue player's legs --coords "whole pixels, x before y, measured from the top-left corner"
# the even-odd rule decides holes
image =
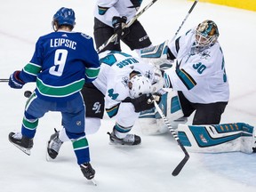
[[[63,144],[63,142],[59,139],[59,132],[57,132],[56,129],[54,129],[54,131],[55,132],[51,135],[50,140],[47,144],[47,161],[55,159],[58,156],[60,147]]]

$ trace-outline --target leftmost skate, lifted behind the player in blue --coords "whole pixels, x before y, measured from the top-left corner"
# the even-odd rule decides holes
[[[23,136],[21,132],[10,132],[9,140],[15,147],[20,148],[21,151],[30,156],[30,149],[33,148],[33,139]]]

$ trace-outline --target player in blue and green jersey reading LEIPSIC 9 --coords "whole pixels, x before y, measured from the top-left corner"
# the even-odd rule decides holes
[[[65,7],[53,15],[54,32],[40,36],[32,59],[9,78],[9,85],[21,89],[36,82],[36,90],[27,101],[21,132],[10,132],[9,140],[30,155],[39,118],[48,111],[59,111],[84,177],[92,180],[88,141],[84,132],[85,105],[81,89],[100,71],[100,62],[91,36],[72,32],[75,12]]]

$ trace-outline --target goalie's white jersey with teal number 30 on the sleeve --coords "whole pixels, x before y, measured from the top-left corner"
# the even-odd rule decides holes
[[[165,86],[171,82],[173,90],[182,91],[193,103],[228,101],[228,77],[220,44],[217,42],[198,53],[192,48],[194,42],[195,29],[169,42],[168,47],[176,57],[176,68],[165,71]]]

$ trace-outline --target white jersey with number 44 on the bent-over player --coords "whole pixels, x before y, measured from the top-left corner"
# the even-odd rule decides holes
[[[100,53],[100,73],[93,84],[105,95],[105,107],[113,108],[130,97],[128,81],[135,70],[155,81],[154,67],[124,52]]]

